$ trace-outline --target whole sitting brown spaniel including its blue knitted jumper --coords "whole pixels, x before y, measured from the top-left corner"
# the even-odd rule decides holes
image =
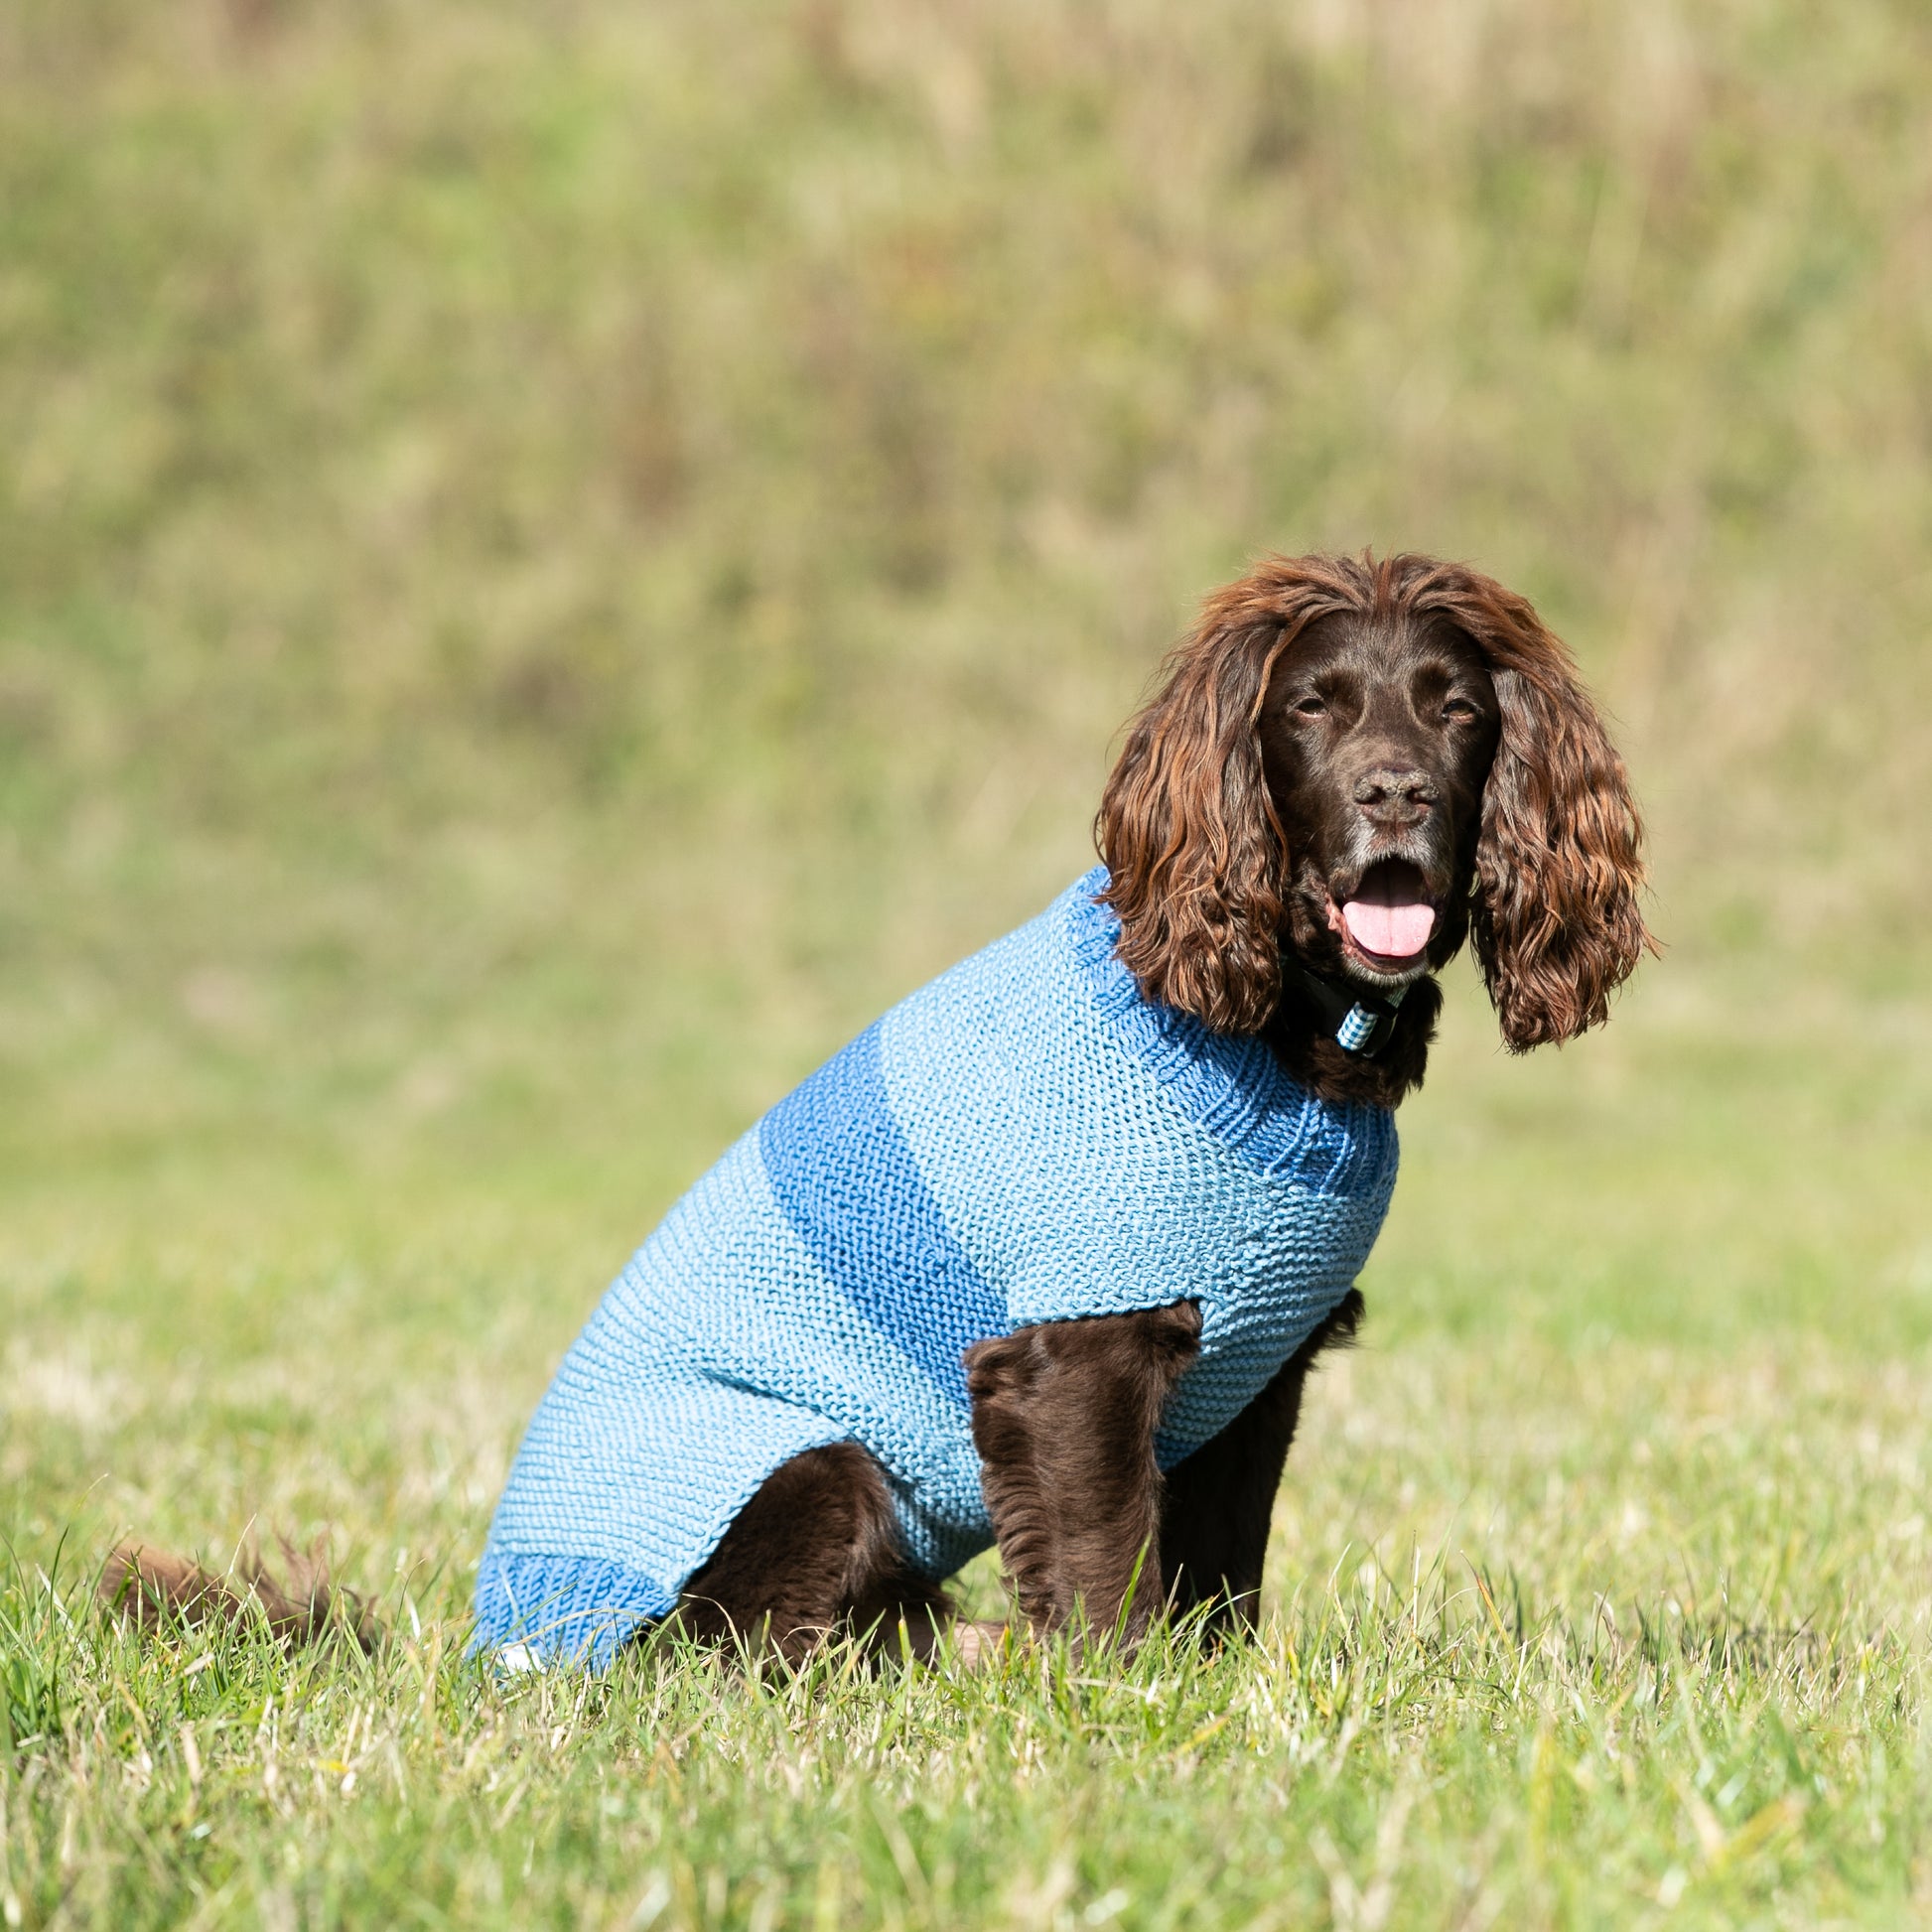
[[[1095,844],[612,1283],[498,1503],[481,1650],[603,1667],[674,1619],[929,1656],[989,1544],[1034,1633],[1254,1623],[1435,974],[1470,943],[1513,1051],[1605,1020],[1650,949],[1642,829],[1528,601],[1424,556],[1277,556],[1167,659]],[[110,1578],[149,1611],[240,1602],[139,1549]]]

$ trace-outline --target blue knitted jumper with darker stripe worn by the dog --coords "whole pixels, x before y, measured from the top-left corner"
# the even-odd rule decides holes
[[[1393,1117],[1142,999],[1105,883],[896,1005],[670,1209],[531,1418],[479,1648],[607,1665],[819,1443],[877,1457],[906,1555],[947,1577],[993,1540],[972,1343],[1198,1302],[1169,1468],[1347,1294],[1395,1186]]]

